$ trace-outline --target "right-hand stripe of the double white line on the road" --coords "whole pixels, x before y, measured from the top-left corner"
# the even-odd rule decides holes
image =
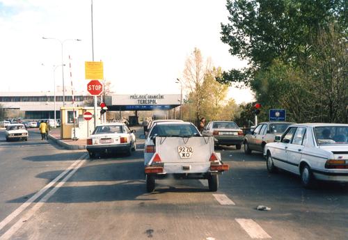
[[[84,163],[86,163],[86,160],[81,160],[79,162],[79,164],[68,174],[66,175],[66,177],[64,177],[63,180],[61,180],[61,182],[58,182],[58,184],[56,184],[56,186],[54,186],[54,188],[49,191],[41,200],[40,202],[36,203],[31,209],[29,209],[26,214],[24,214],[24,216],[22,216],[22,218],[20,218],[17,223],[15,223],[12,227],[10,227],[9,230],[7,230],[1,237],[0,240],[8,240],[10,239],[10,237],[13,236],[13,234],[15,234],[15,232],[17,232],[17,230],[19,230],[19,228],[22,227],[22,225],[24,223],[26,223],[26,221],[28,221],[31,216],[33,216],[33,214],[35,214],[36,211],[38,211],[38,209],[40,209],[40,207],[42,207],[45,202],[47,202],[47,200],[49,200],[49,198],[52,197],[52,195],[54,195],[54,193],[56,193],[56,191],[63,186],[63,184],[65,184],[65,182],[68,181],[68,179],[74,175],[74,173],[76,173],[76,171],[82,166],[84,165]]]

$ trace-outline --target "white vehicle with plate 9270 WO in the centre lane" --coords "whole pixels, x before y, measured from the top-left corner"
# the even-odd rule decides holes
[[[145,135],[141,136],[145,138]],[[204,137],[191,122],[157,122],[144,144],[146,188],[171,175],[177,179],[207,179],[209,191],[217,191],[218,175],[228,170],[214,152],[214,138]]]

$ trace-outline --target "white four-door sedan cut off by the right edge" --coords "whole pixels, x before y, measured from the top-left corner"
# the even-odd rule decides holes
[[[276,143],[267,143],[267,170],[276,168],[301,176],[304,187],[316,179],[348,182],[348,125],[307,123],[290,125]]]

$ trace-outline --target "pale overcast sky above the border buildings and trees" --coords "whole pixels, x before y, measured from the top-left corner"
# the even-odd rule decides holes
[[[61,43],[42,37],[81,39],[63,43],[65,86],[85,90],[84,62],[92,61],[90,0],[0,0],[0,73],[3,91],[48,91],[62,85]],[[244,67],[220,40],[226,0],[94,0],[94,60],[117,94],[180,93],[176,78],[198,47],[223,70]],[[237,103],[248,90],[230,89]]]

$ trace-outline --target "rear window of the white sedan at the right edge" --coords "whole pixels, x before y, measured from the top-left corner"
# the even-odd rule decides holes
[[[348,144],[348,127],[315,127],[315,139],[318,145]]]

